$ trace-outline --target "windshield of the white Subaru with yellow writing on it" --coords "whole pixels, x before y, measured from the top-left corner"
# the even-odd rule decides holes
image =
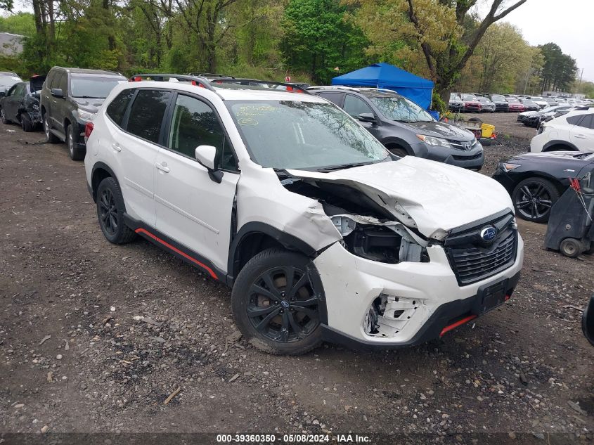
[[[392,159],[376,138],[330,103],[225,101],[252,160],[319,170]]]

